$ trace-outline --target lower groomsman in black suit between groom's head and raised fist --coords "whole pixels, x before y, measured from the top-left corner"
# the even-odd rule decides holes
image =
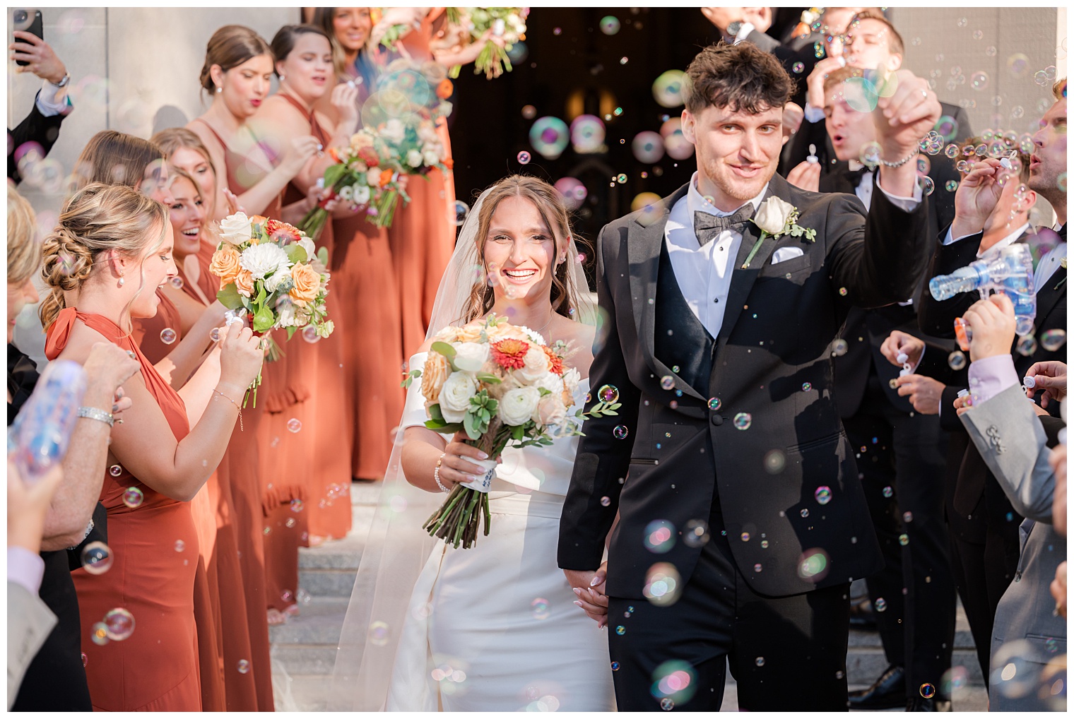
[[[858,157],[876,132],[872,117],[860,112],[867,102],[857,84],[862,74],[875,76],[840,68],[824,82],[826,126],[839,158],[833,171],[819,176],[817,162],[804,162],[789,177],[806,189],[854,194],[868,208],[875,172]],[[918,162],[928,165],[935,188],[959,176],[943,155]],[[933,202],[938,195],[945,202]],[[954,192],[941,189],[929,196],[930,236],[950,222],[954,209]],[[899,392],[899,369],[881,353],[892,331],[919,334],[912,298],[879,309],[855,307],[842,332],[846,352],[832,360],[836,401],[884,552],[884,569],[867,585],[889,666],[871,687],[851,692],[850,706],[917,710],[949,706],[939,691],[928,698],[919,691],[923,685],[942,686],[955,639],[955,585],[943,520],[947,437],[937,416],[939,397],[915,411]]]

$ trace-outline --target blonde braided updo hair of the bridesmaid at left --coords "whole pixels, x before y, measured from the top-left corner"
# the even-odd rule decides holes
[[[41,325],[47,329],[56,321],[67,307],[63,293],[81,290],[101,255],[116,250],[145,256],[151,246],[164,241],[166,230],[164,206],[132,188],[93,182],[78,190],[42,243],[41,276],[49,292],[39,309]]]

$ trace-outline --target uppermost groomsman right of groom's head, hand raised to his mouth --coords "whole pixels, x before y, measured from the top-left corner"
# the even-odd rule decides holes
[[[833,17],[834,23],[841,16]],[[834,164],[836,151],[831,147],[824,123],[824,78],[827,75],[843,65],[862,70],[883,68],[888,71],[902,67],[904,49],[902,35],[879,10],[863,10],[846,21],[848,25],[843,29],[838,32],[836,29],[832,30],[832,36],[843,39],[843,44],[829,47],[827,57],[818,60],[806,78],[806,118],[792,141],[786,167],[794,167],[804,161],[810,145],[816,147],[822,173],[830,172]],[[940,103],[940,106],[944,121],[937,123],[937,132],[948,136],[952,141],[973,134],[970,129],[970,118],[964,109],[945,102]]]

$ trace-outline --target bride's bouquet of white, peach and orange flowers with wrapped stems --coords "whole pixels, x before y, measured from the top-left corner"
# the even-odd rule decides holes
[[[571,413],[579,373],[565,368],[566,352],[565,343],[549,347],[537,333],[495,314],[436,335],[424,368],[411,370],[404,385],[420,377],[425,426],[444,435],[465,431],[466,443],[489,459],[467,459],[484,475],[455,485],[425,523],[430,534],[468,549],[482,516],[489,533],[488,493],[506,446],[547,446],[554,438],[581,435],[587,416],[616,414],[619,403],[606,401]]]

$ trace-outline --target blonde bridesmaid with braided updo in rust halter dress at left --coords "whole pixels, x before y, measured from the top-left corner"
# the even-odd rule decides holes
[[[142,354],[131,319],[157,311],[151,290],[176,272],[172,245],[159,203],[100,184],[71,199],[44,240],[48,358],[84,362],[95,342],[108,341],[142,367],[124,385],[132,407],[113,428],[101,490],[113,564],[102,574],[73,573],[90,696],[101,710],[203,708],[189,500],[222,457],[262,360],[252,334],[233,326],[176,392]]]

